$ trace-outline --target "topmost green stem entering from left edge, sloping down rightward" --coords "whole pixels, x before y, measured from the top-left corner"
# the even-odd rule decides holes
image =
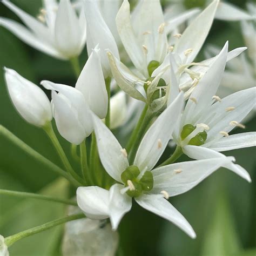
[[[80,186],[81,184],[74,179],[69,173],[63,171],[60,167],[58,167],[56,164],[53,164],[50,160],[43,157],[41,154],[39,154],[37,151],[33,150],[29,145],[26,145],[21,139],[17,138],[13,133],[8,131],[5,127],[0,125],[0,134],[2,134],[6,139],[10,140],[12,143],[14,143],[16,146],[18,146],[20,149],[22,149],[24,152],[29,154],[29,156],[35,158],[45,166],[47,166],[50,170],[58,173],[59,175],[63,176],[67,180],[70,181],[72,185],[75,187]]]

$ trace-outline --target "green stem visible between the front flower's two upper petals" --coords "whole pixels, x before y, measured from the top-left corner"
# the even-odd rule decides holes
[[[150,111],[147,111],[144,119],[142,120],[142,122],[139,125],[139,129],[137,131],[137,136],[135,137],[135,139],[133,141],[133,145],[132,145],[132,148],[131,148],[131,151],[129,154],[129,160],[130,160],[131,164],[134,161],[140,141],[142,140],[142,137],[143,137],[147,127],[149,126],[152,117],[153,117],[153,113]]]

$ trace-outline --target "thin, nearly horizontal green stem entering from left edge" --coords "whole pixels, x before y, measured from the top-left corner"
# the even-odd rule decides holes
[[[12,190],[0,190],[0,194],[3,194],[5,196],[14,196],[14,197],[22,197],[22,198],[34,198],[34,199],[39,199],[39,200],[53,201],[56,203],[77,206],[76,201],[68,200],[68,199],[61,199],[61,198],[56,198],[56,197],[50,197],[50,196],[44,196],[43,194],[35,194],[35,193],[12,191]]]

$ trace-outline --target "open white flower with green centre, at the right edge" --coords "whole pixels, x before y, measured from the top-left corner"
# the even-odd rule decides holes
[[[255,105],[256,88],[242,90],[220,99],[216,95],[224,73],[228,43],[214,59],[207,73],[191,93],[180,125],[173,139],[183,152],[194,159],[225,156],[216,151],[255,146],[255,132],[228,136],[234,127],[244,127],[240,122]],[[239,165],[228,164],[226,168],[251,181],[250,175]]]

